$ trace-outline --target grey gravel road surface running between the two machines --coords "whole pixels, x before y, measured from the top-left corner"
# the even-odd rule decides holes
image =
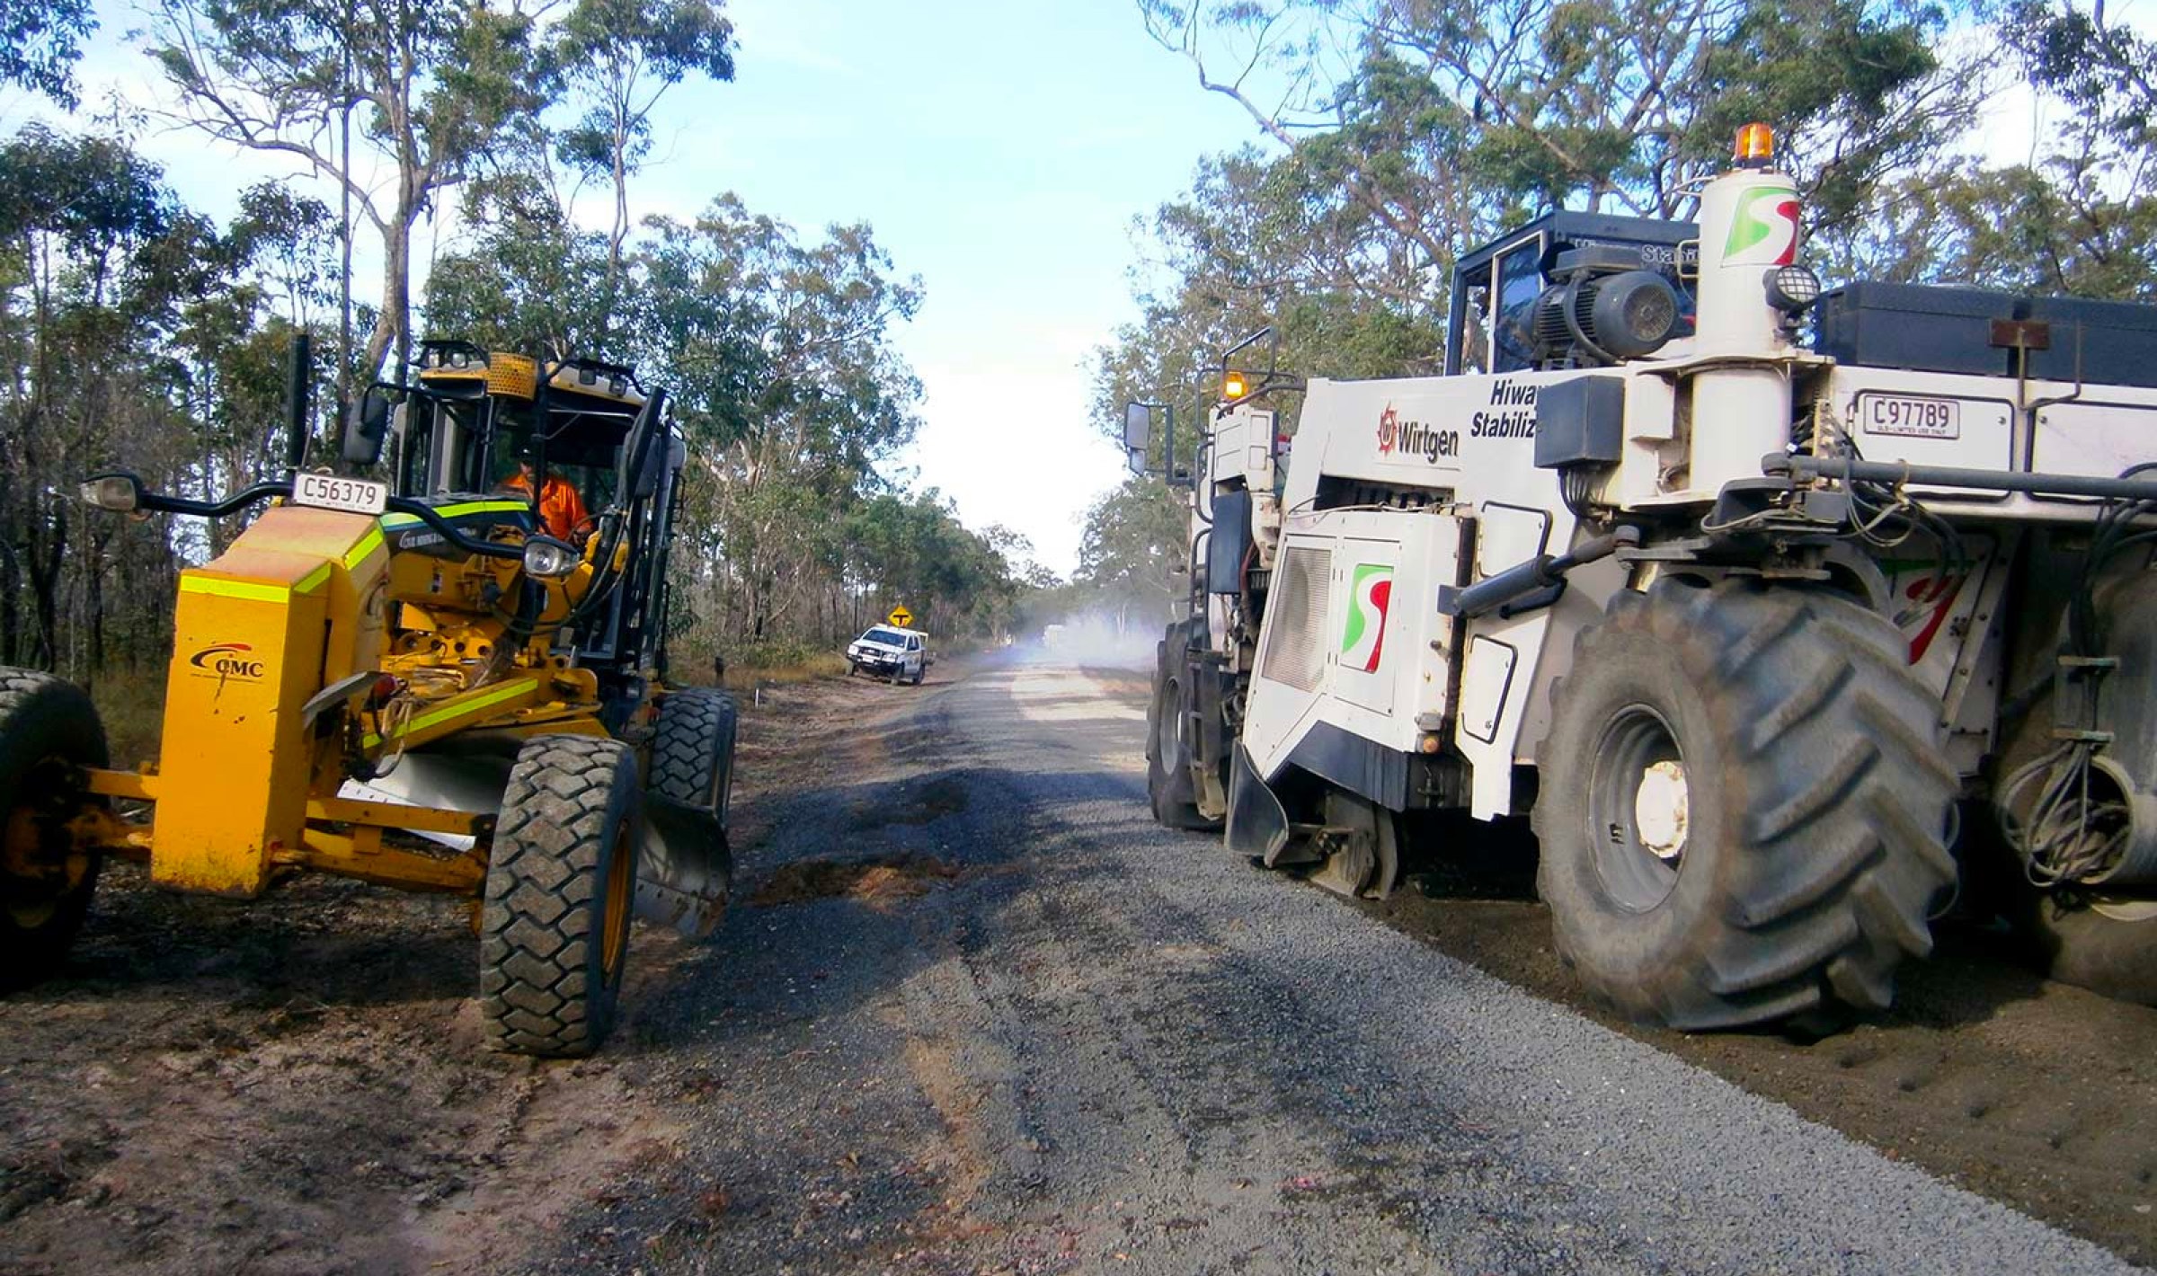
[[[820,763],[768,815],[766,905],[684,972],[710,996],[647,1022],[725,1080],[559,1261],[2127,1270],[1154,828],[1141,726],[1018,664]]]

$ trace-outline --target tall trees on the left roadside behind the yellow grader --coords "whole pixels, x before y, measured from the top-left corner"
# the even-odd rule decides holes
[[[80,101],[82,0],[0,0],[0,84],[67,112],[0,138],[0,664],[155,720],[177,573],[239,524],[99,517],[75,485],[127,468],[207,496],[274,474],[296,332],[317,351],[317,463],[339,403],[423,336],[667,386],[690,448],[677,675],[815,670],[899,601],[951,640],[1009,627],[1031,547],[893,468],[921,403],[893,332],[921,280],[865,222],[807,235],[731,192],[632,213],[651,110],[733,78],[718,2],[157,0],[142,19],[170,116]],[[244,190],[220,222],[136,149],[175,125],[209,164],[252,149],[319,181]],[[367,263],[380,278],[354,280]]]

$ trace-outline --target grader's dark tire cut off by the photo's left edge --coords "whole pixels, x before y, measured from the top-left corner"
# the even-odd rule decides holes
[[[50,976],[91,912],[101,856],[75,854],[78,767],[108,765],[91,698],[65,679],[0,668],[0,989]]]

